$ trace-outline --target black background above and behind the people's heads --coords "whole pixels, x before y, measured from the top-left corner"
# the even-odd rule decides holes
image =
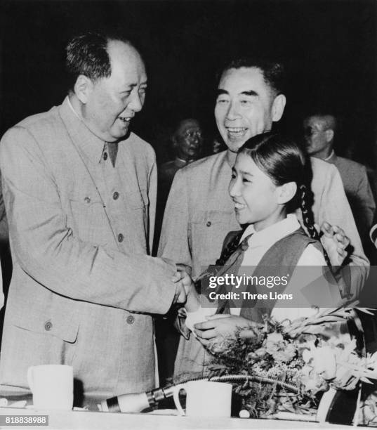
[[[341,120],[338,153],[376,167],[376,1],[2,1],[0,133],[65,97],[64,46],[77,32],[121,27],[142,48],[149,89],[133,130],[164,161],[181,116],[216,133],[216,70],[245,53],[272,54],[289,71],[283,129],[317,107]]]

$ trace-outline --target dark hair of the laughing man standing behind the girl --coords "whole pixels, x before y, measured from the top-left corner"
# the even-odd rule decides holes
[[[275,96],[285,93],[285,70],[282,63],[265,58],[241,57],[227,63],[221,74],[227,72],[227,70],[241,69],[242,67],[255,67],[261,70],[265,83],[275,92]]]

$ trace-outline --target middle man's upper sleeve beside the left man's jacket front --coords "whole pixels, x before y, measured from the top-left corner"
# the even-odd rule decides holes
[[[178,170],[166,202],[158,255],[192,267],[187,188],[185,174]]]

